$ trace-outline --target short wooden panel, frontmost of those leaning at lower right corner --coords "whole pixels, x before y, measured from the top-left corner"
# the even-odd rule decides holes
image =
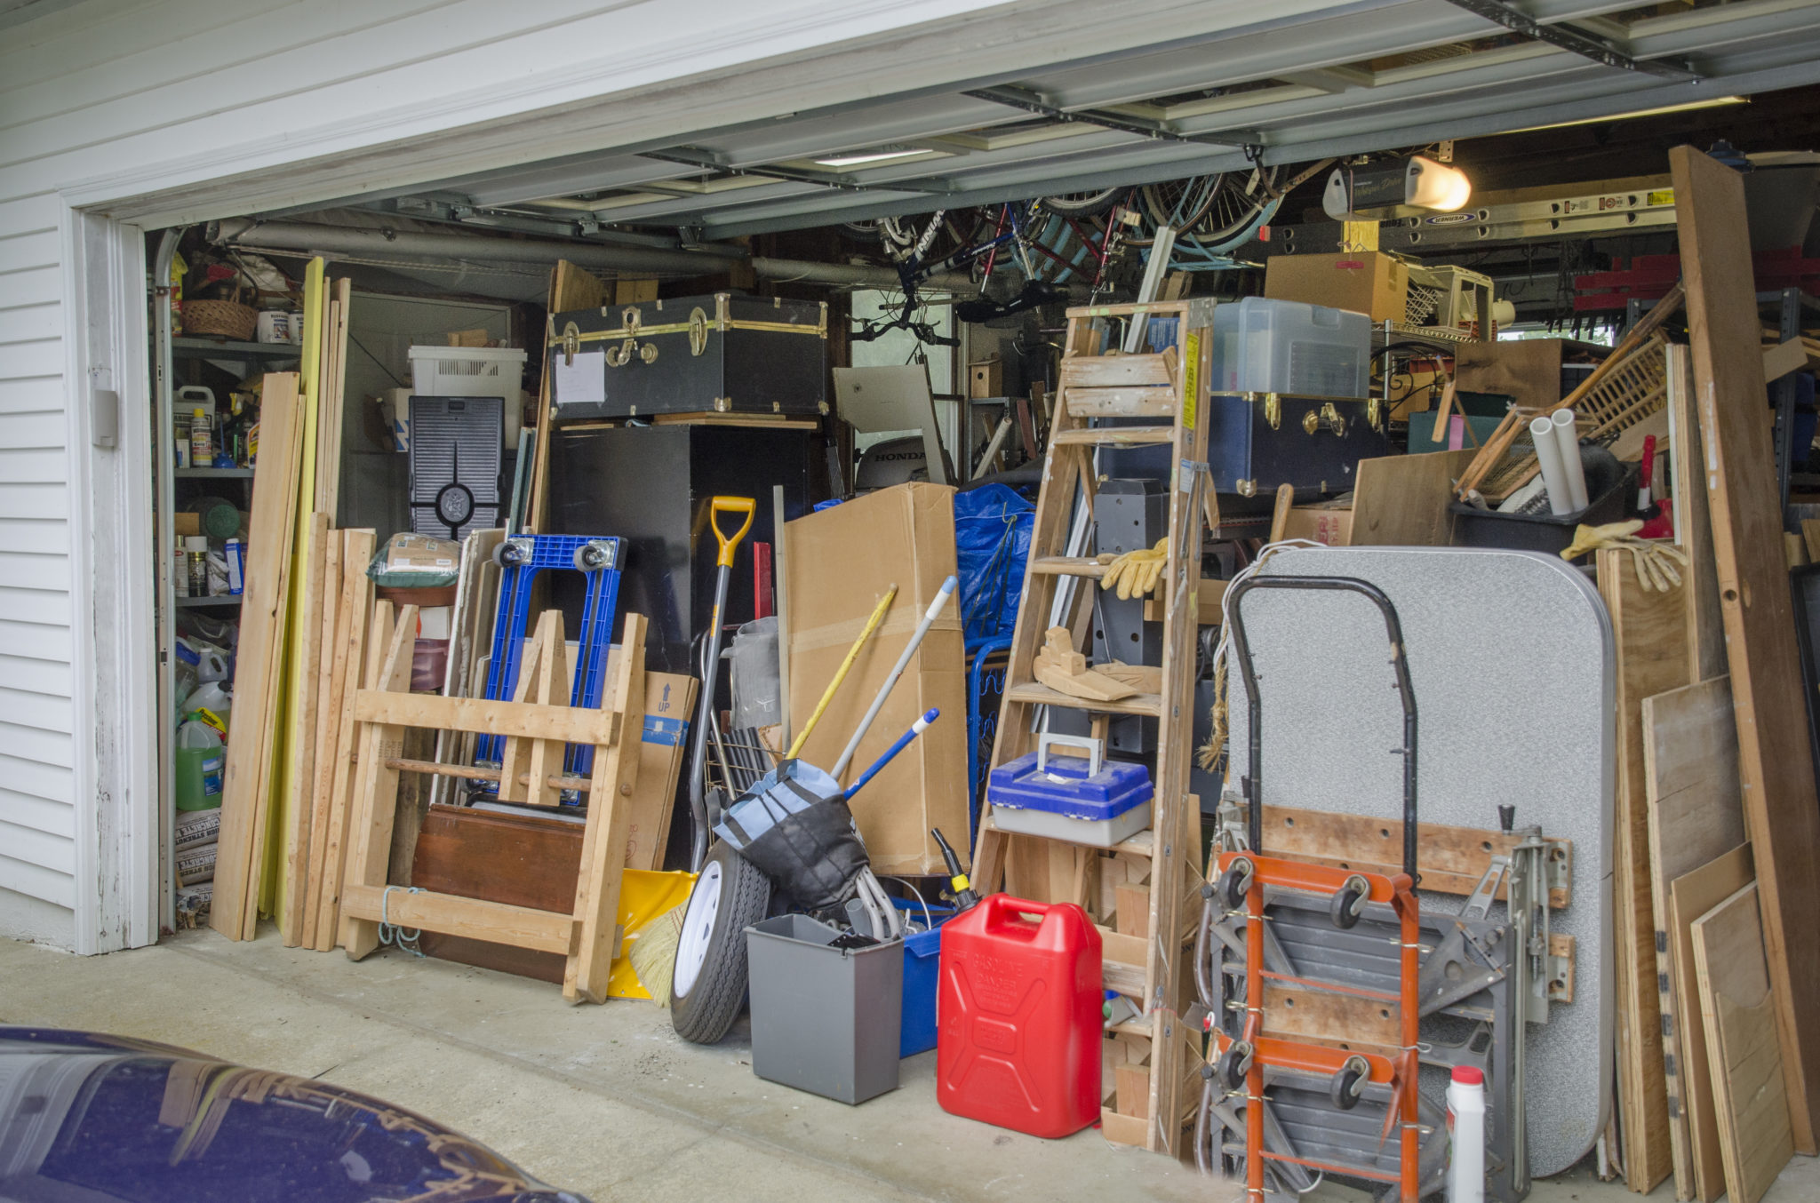
[[[1693,935],[1725,1194],[1756,1203],[1795,1156],[1756,883],[1694,919]]]

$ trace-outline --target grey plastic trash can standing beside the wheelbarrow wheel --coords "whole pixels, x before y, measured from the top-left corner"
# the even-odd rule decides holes
[[[897,1088],[905,945],[830,948],[808,915],[746,928],[752,1072],[841,1103]]]

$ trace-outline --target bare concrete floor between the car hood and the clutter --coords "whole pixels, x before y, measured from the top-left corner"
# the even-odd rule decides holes
[[[157,948],[73,957],[0,941],[0,1023],[93,1028],[324,1077],[419,1110],[595,1203],[1239,1199],[1165,1158],[1088,1130],[1039,1141],[935,1105],[935,1054],[903,1087],[844,1107],[752,1076],[744,1023],[682,1043],[648,1003],[566,1006],[555,986],[382,950],[235,945],[184,932]],[[1325,1198],[1360,1198],[1327,1190]],[[1583,1170],[1536,1203],[1618,1203]],[[1673,1199],[1663,1183],[1653,1199]],[[1765,1203],[1820,1199],[1796,1158]]]

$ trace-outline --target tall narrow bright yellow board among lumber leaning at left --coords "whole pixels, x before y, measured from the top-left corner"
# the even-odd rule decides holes
[[[278,899],[284,897],[286,890],[284,841],[302,777],[302,764],[297,759],[302,744],[298,739],[293,739],[295,732],[291,724],[295,723],[295,715],[302,713],[304,688],[311,684],[306,681],[300,664],[304,624],[295,619],[302,617],[304,597],[308,597],[309,590],[304,575],[309,561],[309,510],[317,495],[317,402],[322,393],[322,335],[326,333],[322,329],[322,302],[328,297],[322,278],[324,268],[326,264],[320,258],[311,258],[304,269],[304,346],[302,364],[298,366],[302,375],[304,439],[298,446],[300,471],[297,473],[297,497],[291,499],[291,506],[297,511],[297,539],[291,544],[289,601],[286,602],[288,621],[284,630],[277,632],[284,657],[278,672],[278,721],[273,726],[271,737],[271,763],[282,772],[273,773],[275,786],[268,806],[266,846],[260,850],[266,857],[266,872],[260,874],[258,908],[269,915],[282,910]]]

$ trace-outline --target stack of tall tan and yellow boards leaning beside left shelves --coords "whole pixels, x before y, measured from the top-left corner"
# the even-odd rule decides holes
[[[324,635],[324,615],[333,608],[339,619],[346,601],[349,626],[362,635],[366,630],[353,622],[368,610],[366,593],[348,597],[344,568],[364,581],[366,561],[346,561],[362,546],[371,555],[373,531],[364,531],[360,542],[333,530],[349,304],[348,280],[331,289],[322,260],[311,260],[304,273],[302,371],[268,375],[262,388],[235,652],[235,708],[242,719],[228,739],[209,914],[209,925],[229,939],[251,939],[262,910],[300,917],[302,899],[295,910],[286,906],[289,843],[298,830],[297,812],[313,804],[318,757],[333,753],[324,748],[317,717],[322,706],[335,704],[333,693],[324,697],[322,677],[324,668],[333,677],[335,653],[346,646],[335,628]],[[288,935],[295,932],[302,926],[286,926]]]

